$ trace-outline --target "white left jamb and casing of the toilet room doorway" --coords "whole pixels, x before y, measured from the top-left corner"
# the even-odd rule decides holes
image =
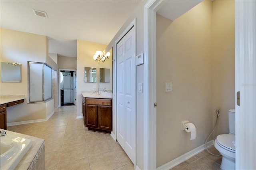
[[[166,0],[144,5],[144,169],[156,169],[156,12]]]

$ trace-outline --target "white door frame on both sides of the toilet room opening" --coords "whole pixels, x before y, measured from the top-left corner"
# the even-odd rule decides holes
[[[156,102],[156,12],[165,3],[166,1],[164,2],[164,0],[149,0],[144,5],[144,91],[147,92],[144,93],[144,169],[156,169],[156,108],[153,107],[154,102]],[[254,129],[252,128],[252,123],[250,124],[251,128],[245,126],[248,125],[248,122],[246,121],[253,120],[256,113],[256,109],[252,109],[254,105],[250,103],[250,101],[254,101],[255,103],[256,94],[246,91],[248,87],[244,86],[245,82],[248,82],[248,84],[250,84],[250,88],[256,89],[255,78],[253,79],[253,76],[255,76],[254,72],[252,70],[248,71],[248,73],[244,71],[244,68],[247,68],[248,66],[256,67],[255,59],[253,59],[255,51],[254,53],[250,54],[250,57],[244,57],[244,55],[246,54],[244,51],[252,49],[250,47],[255,44],[251,43],[252,46],[249,46],[250,43],[246,42],[246,38],[243,39],[243,36],[248,35],[255,37],[253,29],[250,29],[250,32],[247,32],[247,34],[246,31],[248,31],[248,28],[251,26],[252,21],[254,21],[256,18],[255,13],[254,15],[252,15],[252,8],[256,6],[256,2],[251,1],[250,5],[246,4],[246,2],[244,1],[236,1],[235,3],[236,92],[241,92],[240,103],[244,105],[242,108],[236,105],[236,127],[239,127],[236,128],[236,168],[243,169],[246,167],[248,168],[249,166],[255,166],[255,162],[248,162],[246,159],[240,160],[240,158],[255,156],[255,152],[248,152],[249,150],[245,147],[243,147],[244,150],[242,151],[241,148],[242,146],[246,146],[245,139],[250,138],[250,134],[253,133]],[[249,6],[251,7],[250,10],[248,10]],[[239,15],[240,12],[242,12],[243,15]],[[247,20],[244,19],[240,21],[238,16],[245,18],[249,16],[250,18],[249,20],[248,18],[246,18]],[[242,38],[240,38],[240,36]],[[246,45],[244,47],[240,47],[240,44]],[[243,77],[243,79],[241,79],[241,77]],[[242,92],[246,93],[247,98],[245,97],[245,94],[242,94]],[[250,114],[241,114],[247,113],[246,108],[252,109],[250,111]],[[251,133],[246,133],[246,138],[241,138],[240,134],[244,134],[245,131],[248,132],[248,129],[251,130]],[[252,146],[247,147],[249,149],[256,146],[255,141],[251,141],[250,144]],[[248,164],[250,165],[248,166]]]

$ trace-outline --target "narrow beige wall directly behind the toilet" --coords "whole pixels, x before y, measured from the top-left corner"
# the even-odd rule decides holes
[[[228,110],[235,108],[235,1],[212,1],[212,124],[216,132],[229,132]]]

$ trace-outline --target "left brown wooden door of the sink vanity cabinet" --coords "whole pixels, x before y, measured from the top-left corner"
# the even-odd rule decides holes
[[[86,105],[86,127],[97,128],[98,127],[98,111],[97,105]]]

